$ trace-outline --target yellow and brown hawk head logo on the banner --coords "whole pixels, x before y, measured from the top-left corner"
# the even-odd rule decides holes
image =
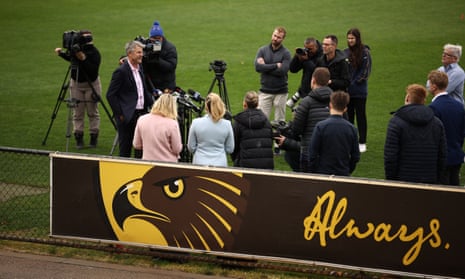
[[[118,240],[207,251],[232,246],[249,191],[241,173],[105,161],[99,168]]]

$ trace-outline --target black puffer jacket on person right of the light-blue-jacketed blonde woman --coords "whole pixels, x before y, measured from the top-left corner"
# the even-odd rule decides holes
[[[235,167],[273,169],[271,124],[259,109],[246,109],[234,116]]]

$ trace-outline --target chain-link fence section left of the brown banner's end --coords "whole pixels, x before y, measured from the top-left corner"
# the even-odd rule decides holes
[[[0,147],[0,238],[48,238],[49,152]]]

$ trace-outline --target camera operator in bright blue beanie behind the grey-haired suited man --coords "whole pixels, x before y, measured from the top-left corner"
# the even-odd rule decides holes
[[[149,90],[173,91],[176,89],[176,66],[178,53],[174,44],[169,42],[158,21],[149,31],[149,40],[142,59]]]

